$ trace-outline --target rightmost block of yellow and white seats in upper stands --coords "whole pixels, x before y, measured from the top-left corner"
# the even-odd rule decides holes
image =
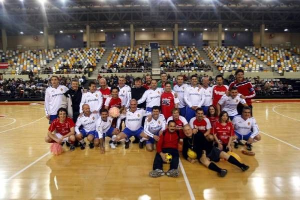
[[[246,46],[249,52],[255,55],[274,71],[282,74],[285,72],[300,71],[300,59],[294,51],[299,49],[283,49],[278,47],[254,47]]]

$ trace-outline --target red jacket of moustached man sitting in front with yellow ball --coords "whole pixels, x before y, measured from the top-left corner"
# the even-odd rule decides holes
[[[166,129],[161,136],[159,136],[159,141],[156,144],[156,151],[160,153],[164,148],[178,149],[178,135],[176,132],[169,133]]]

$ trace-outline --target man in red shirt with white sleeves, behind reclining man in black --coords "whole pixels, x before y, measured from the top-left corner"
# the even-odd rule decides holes
[[[196,116],[191,118],[189,125],[194,133],[201,132],[207,141],[213,141],[213,136],[210,134],[211,124],[207,118],[204,118],[204,111],[202,108],[196,109]]]

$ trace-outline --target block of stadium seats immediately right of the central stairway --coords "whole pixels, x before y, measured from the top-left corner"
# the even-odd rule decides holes
[[[194,46],[158,47],[158,56],[163,72],[211,71]]]

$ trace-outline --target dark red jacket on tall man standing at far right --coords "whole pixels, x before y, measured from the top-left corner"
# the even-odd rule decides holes
[[[246,97],[245,101],[248,104],[248,106],[250,106],[252,104],[251,99],[255,97],[255,91],[252,84],[247,80],[242,80],[240,83],[238,83],[237,80],[235,80],[230,83],[229,89],[231,89],[231,87],[233,86],[237,87],[237,92],[239,94],[242,94]]]

